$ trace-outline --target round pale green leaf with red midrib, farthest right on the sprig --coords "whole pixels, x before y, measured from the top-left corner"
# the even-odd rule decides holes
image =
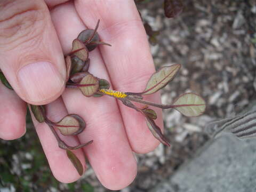
[[[173,102],[174,109],[185,116],[196,117],[202,115],[206,105],[204,99],[195,93],[185,93]]]

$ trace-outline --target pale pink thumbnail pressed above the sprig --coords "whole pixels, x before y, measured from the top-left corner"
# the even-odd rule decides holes
[[[21,91],[27,101],[43,102],[57,95],[64,85],[64,78],[48,61],[30,63],[18,72]]]

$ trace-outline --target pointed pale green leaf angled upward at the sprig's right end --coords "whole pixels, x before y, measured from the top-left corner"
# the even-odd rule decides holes
[[[171,65],[162,67],[156,73],[154,73],[146,86],[145,91],[142,92],[143,95],[152,94],[157,92],[158,90],[162,89],[167,83],[172,81],[172,79],[177,74],[178,70],[180,69],[180,65]]]

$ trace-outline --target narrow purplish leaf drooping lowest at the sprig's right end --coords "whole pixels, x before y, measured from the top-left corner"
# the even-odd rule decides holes
[[[169,141],[164,137],[163,133],[161,132],[161,129],[155,124],[154,120],[146,117],[146,122],[148,125],[148,129],[151,131],[154,137],[164,145],[170,147],[171,145]]]

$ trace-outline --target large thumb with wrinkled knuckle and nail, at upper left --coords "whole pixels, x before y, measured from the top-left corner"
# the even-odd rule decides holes
[[[0,1],[0,68],[21,99],[44,105],[65,88],[62,49],[42,0]]]

